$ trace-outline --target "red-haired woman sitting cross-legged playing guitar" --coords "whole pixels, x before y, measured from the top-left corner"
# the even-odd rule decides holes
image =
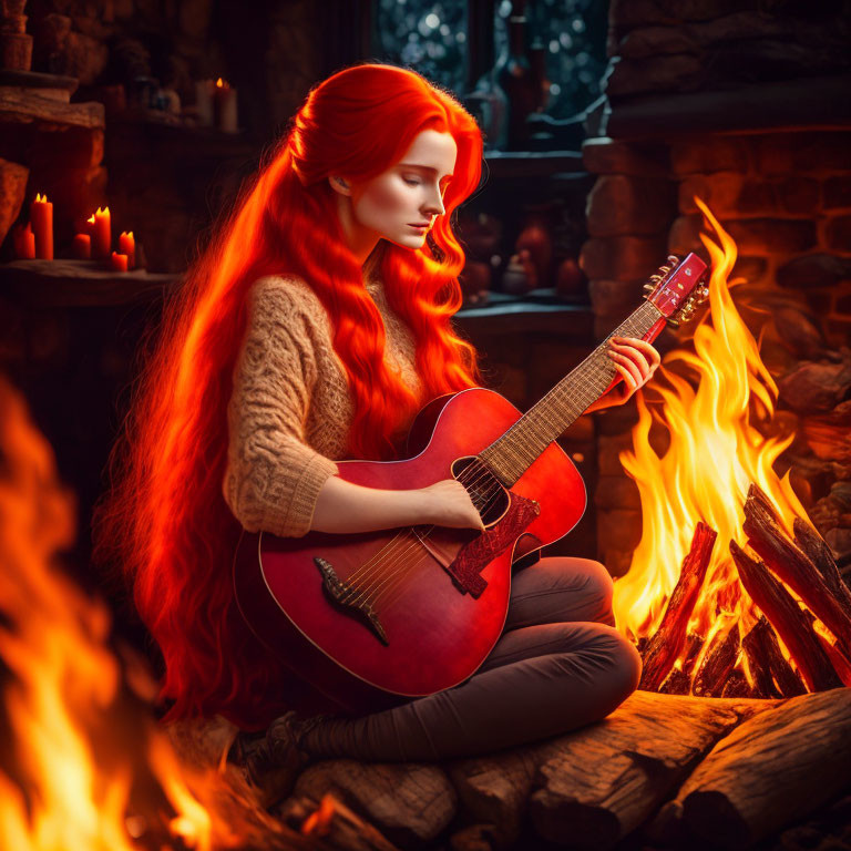
[[[310,705],[236,612],[240,527],[482,529],[453,480],[381,491],[335,475],[335,460],[397,457],[424,403],[479,383],[450,325],[464,263],[450,218],[481,155],[472,117],[417,73],[341,71],[310,92],[170,306],[100,535],[117,544],[163,653],[170,718],[219,712],[257,729]],[[611,357],[624,385],[594,410],[629,398],[659,360],[639,340]],[[362,718],[290,711],[254,766],[291,761],[296,746],[442,759],[602,718],[640,667],[611,598],[598,563],[543,558],[513,578],[505,632],[465,683]]]

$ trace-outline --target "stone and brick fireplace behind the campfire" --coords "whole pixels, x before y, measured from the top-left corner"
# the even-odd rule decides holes
[[[745,7],[745,8],[742,8]],[[734,296],[779,388],[778,461],[840,566],[851,556],[851,116],[839,4],[613,0],[607,103],[583,147],[597,175],[581,265],[597,340],[668,252],[697,252],[700,197],[735,239]],[[758,82],[757,82],[758,81]],[[666,330],[663,355],[690,332]],[[638,489],[619,461],[635,404],[596,417],[601,560],[629,567]],[[664,449],[666,434],[650,432]]]

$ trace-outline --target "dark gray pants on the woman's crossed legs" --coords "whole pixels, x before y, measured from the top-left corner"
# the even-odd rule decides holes
[[[614,628],[612,580],[587,558],[550,557],[512,577],[505,629],[464,683],[309,730],[316,757],[433,760],[488,753],[599,720],[638,686],[642,660]]]

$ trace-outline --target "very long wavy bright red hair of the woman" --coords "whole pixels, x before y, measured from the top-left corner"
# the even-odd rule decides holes
[[[226,407],[252,284],[297,275],[327,309],[353,401],[351,457],[392,457],[392,435],[422,401],[385,367],[381,317],[344,240],[328,176],[381,174],[428,129],[458,145],[447,212],[421,249],[379,243],[380,275],[417,339],[424,399],[475,386],[475,352],[450,326],[464,263],[450,218],[479,184],[481,132],[452,95],[392,65],[348,68],[310,91],[166,305],[111,458],[95,556],[132,583],[165,663],[167,718],[221,712],[257,726],[287,701],[281,670],[236,612],[230,560],[239,526],[222,495]]]

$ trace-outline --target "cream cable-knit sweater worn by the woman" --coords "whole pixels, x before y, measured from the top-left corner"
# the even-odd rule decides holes
[[[366,283],[385,322],[385,358],[414,393],[416,341],[387,304],[380,280]],[[248,324],[227,410],[225,501],[249,532],[300,537],[310,529],[322,484],[338,472],[352,420],[330,319],[299,278],[252,285]]]

